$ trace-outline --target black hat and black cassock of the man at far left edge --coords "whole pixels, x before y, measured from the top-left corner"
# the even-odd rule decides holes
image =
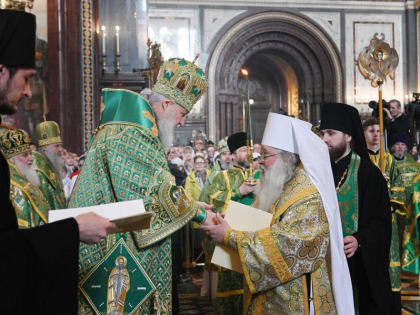
[[[32,14],[0,10],[0,74],[5,75],[4,66],[8,69],[34,68],[35,27]],[[0,86],[1,113],[6,113],[4,107],[8,106],[7,92],[11,86],[4,85]],[[11,113],[10,109],[8,113]],[[19,230],[9,196],[9,166],[0,153],[0,313],[76,314],[77,221],[67,219]]]

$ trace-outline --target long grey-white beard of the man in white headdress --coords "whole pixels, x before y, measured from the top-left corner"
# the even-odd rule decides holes
[[[268,170],[264,170],[257,188],[253,207],[270,211],[274,202],[283,193],[284,185],[293,177],[299,159],[289,152],[281,152],[279,158]]]

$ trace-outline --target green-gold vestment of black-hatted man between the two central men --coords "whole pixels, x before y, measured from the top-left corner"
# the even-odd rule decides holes
[[[254,175],[259,178],[259,171]],[[245,172],[233,167],[229,170],[219,172],[209,187],[208,195],[210,204],[214,205],[213,211],[225,213],[230,200],[234,200],[246,205],[251,205],[254,195],[242,196],[239,187],[245,180]],[[203,242],[204,252],[211,259],[214,251],[214,243],[206,239]],[[219,314],[242,314],[243,310],[243,275],[219,268],[216,301]]]

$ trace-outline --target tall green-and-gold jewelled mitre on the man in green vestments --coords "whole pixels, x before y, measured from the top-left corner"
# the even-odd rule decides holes
[[[185,59],[171,58],[160,67],[152,90],[190,111],[207,89],[203,70]]]

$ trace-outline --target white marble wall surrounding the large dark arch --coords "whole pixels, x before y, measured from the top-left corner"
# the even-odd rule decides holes
[[[183,55],[192,59],[195,53],[200,53],[199,64],[206,68],[218,40],[244,15],[282,10],[304,16],[327,35],[340,56],[344,72],[344,101],[366,112],[369,110],[367,103],[377,99],[378,93],[361,76],[356,60],[375,33],[383,33],[400,57],[395,80],[388,80],[384,85],[384,98],[405,101],[405,96],[413,92],[407,85],[407,81],[412,80],[407,69],[413,57],[407,58],[406,14],[407,10],[419,6],[418,0],[151,0],[149,35],[163,43],[165,57]],[[415,80],[416,86],[420,87],[420,12],[416,16],[417,25],[412,31],[417,32],[419,40],[412,46],[416,47],[414,55],[417,56],[419,71]],[[202,107],[197,111],[196,115],[202,117]]]

